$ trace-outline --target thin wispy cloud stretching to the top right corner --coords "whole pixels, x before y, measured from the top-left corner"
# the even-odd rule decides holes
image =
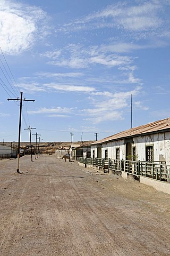
[[[121,1],[109,5],[105,9],[91,13],[84,18],[67,23],[56,31],[70,33],[71,31],[95,30],[113,28],[123,31],[119,38],[151,38],[153,35],[169,37],[169,21],[163,14],[166,1]],[[115,33],[116,36],[116,33]]]

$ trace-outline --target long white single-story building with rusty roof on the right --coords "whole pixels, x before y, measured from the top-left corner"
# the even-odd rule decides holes
[[[90,145],[92,158],[170,165],[170,117],[111,135]]]

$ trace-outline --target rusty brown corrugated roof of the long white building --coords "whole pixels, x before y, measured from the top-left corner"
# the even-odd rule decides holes
[[[159,121],[155,121],[155,122],[152,122],[149,124],[140,125],[138,127],[134,127],[132,129],[129,129],[129,130],[126,130],[123,132],[116,133],[116,134],[106,137],[102,140],[92,142],[91,145],[101,144],[103,142],[122,139],[122,138],[126,138],[126,137],[137,136],[140,134],[144,135],[145,133],[152,133],[152,132],[155,133],[155,132],[159,132],[159,131],[161,132],[161,131],[167,130],[167,129],[170,129],[170,117],[168,117],[166,119],[159,120]]]

